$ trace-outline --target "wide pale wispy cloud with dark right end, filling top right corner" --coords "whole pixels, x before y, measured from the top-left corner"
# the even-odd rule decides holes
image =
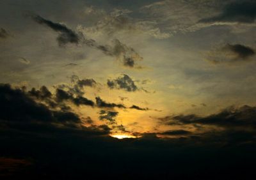
[[[169,37],[209,26],[227,25],[246,30],[255,26],[255,1],[158,1],[141,7],[148,22]],[[189,18],[188,18],[189,17]],[[180,23],[181,22],[181,23]],[[230,29],[230,28],[229,28]],[[244,31],[243,30],[243,31]],[[166,37],[168,37],[166,36]]]

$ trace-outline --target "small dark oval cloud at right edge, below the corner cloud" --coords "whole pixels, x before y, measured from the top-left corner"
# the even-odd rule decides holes
[[[248,57],[255,55],[255,51],[252,48],[240,44],[227,44],[225,47],[223,47],[223,50],[230,50],[241,59],[247,59]]]

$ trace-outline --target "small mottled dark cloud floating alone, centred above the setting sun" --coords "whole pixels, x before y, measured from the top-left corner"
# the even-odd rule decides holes
[[[114,80],[108,80],[108,87],[110,89],[124,89],[125,91],[137,91],[138,87],[135,85],[134,80],[129,75],[122,75]]]

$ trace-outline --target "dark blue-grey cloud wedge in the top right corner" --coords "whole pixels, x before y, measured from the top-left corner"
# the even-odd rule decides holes
[[[256,18],[255,1],[235,1],[227,4],[220,15],[202,19],[199,22],[243,22],[253,23]]]

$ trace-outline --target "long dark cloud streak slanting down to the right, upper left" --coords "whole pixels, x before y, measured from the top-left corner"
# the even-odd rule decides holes
[[[75,31],[69,29],[64,24],[52,22],[51,20],[40,17],[39,15],[29,15],[29,17],[35,20],[35,22],[37,22],[38,24],[43,24],[58,32],[59,36],[57,37],[57,41],[60,47],[63,47],[67,43],[78,44],[84,38],[83,34],[77,34]]]

